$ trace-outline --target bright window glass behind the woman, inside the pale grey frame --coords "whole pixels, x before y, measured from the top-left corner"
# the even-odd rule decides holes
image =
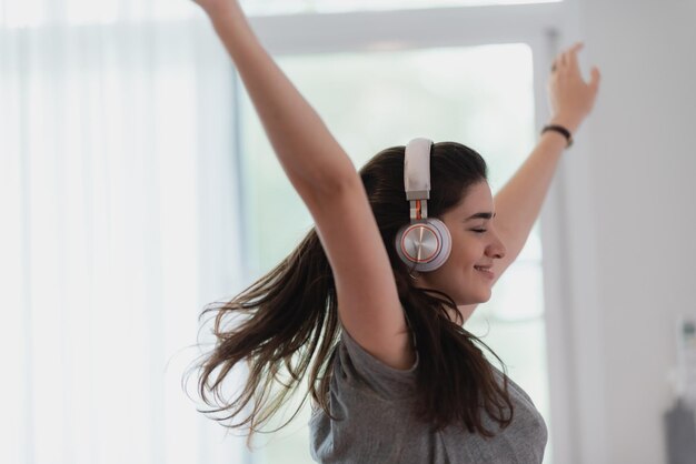
[[[495,194],[535,142],[533,52],[524,43],[296,54],[278,62],[352,157],[356,168],[381,149],[405,144],[414,137],[454,140],[484,155]],[[248,98],[241,121],[249,212],[246,235],[252,240],[255,272],[261,274],[295,248],[312,222],[280,169]],[[484,336],[548,422],[537,229],[496,284],[491,301],[477,309],[467,329]],[[257,440],[253,462],[311,462],[307,413],[288,430]]]

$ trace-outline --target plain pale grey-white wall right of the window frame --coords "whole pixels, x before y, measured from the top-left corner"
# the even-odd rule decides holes
[[[696,313],[696,2],[579,0],[578,9],[587,63],[603,71],[583,133],[597,264],[591,311],[601,325],[603,355],[593,369],[606,407],[604,460],[666,463],[662,415],[673,401],[675,319]]]

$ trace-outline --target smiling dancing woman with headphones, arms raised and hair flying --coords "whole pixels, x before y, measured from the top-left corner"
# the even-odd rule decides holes
[[[270,273],[206,310],[217,311],[218,343],[199,391],[222,403],[210,412],[253,432],[307,377],[318,462],[540,463],[541,416],[463,324],[521,251],[594,105],[599,71],[584,81],[581,44],[555,60],[550,129],[494,202],[484,160],[455,142],[415,139],[358,175],[236,0],[196,1],[316,222]],[[239,363],[248,380],[225,400],[222,381]]]

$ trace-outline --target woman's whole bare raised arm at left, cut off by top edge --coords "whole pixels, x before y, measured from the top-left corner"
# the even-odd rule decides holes
[[[236,0],[196,0],[235,62],[266,134],[311,213],[334,272],[344,327],[386,364],[415,354],[362,182],[328,129],[259,43]]]

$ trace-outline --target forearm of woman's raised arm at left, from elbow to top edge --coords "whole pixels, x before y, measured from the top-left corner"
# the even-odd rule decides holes
[[[290,182],[305,196],[352,181],[348,155],[259,43],[236,0],[197,1],[237,67]]]

